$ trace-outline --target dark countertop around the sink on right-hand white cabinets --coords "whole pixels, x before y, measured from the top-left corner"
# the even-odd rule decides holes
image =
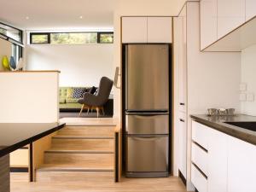
[[[235,116],[208,116],[207,114],[193,114],[190,115],[190,117],[203,125],[210,126],[215,130],[224,132],[227,135],[239,138],[247,143],[252,143],[253,145],[256,145],[256,131],[250,131],[235,125],[229,125],[224,123],[236,121],[256,122],[256,117],[254,116],[245,114],[236,114]]]

